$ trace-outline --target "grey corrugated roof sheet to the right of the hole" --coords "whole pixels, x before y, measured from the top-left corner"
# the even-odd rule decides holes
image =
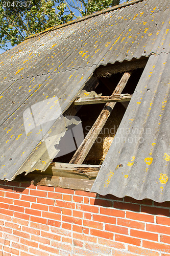
[[[169,68],[170,54],[150,56],[91,191],[170,200]]]

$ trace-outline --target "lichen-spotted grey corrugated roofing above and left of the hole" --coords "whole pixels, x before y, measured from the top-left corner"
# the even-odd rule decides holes
[[[29,38],[0,55],[0,179],[44,170],[55,157],[48,155],[42,137],[58,126],[61,132],[58,120],[43,127],[43,134],[39,126],[26,134],[23,114],[35,103],[55,98],[63,112],[96,67],[170,52],[168,0],[132,1],[113,9]]]

